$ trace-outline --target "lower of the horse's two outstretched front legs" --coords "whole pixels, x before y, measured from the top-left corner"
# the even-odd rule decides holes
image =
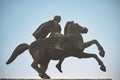
[[[103,62],[98,58],[98,56],[96,54],[90,54],[90,53],[85,53],[83,52],[82,54],[80,54],[79,58],[95,58],[96,61],[98,62],[98,64],[100,65],[100,69],[104,72],[106,72],[106,67],[103,64]]]

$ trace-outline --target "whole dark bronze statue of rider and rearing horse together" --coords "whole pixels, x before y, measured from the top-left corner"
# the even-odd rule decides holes
[[[59,60],[56,68],[62,72],[61,65],[67,57],[77,57],[80,59],[94,58],[98,62],[100,70],[106,72],[105,65],[96,54],[84,51],[85,48],[95,44],[99,50],[99,55],[101,57],[105,56],[103,47],[96,39],[84,42],[82,34],[87,33],[88,29],[86,27],[82,27],[74,21],[68,21],[65,25],[63,35],[61,34],[61,27],[59,25],[60,21],[61,17],[57,15],[53,18],[53,20],[41,24],[33,33],[36,40],[30,45],[27,43],[21,43],[18,45],[6,64],[10,64],[17,58],[18,55],[22,54],[26,50],[29,50],[29,53],[33,58],[31,66],[43,79],[50,79],[50,76],[46,74],[50,60]],[[49,33],[50,36],[47,37]]]

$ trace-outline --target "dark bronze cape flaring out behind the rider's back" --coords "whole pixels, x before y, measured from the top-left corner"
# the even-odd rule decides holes
[[[36,39],[45,39],[46,36],[50,33],[50,28],[54,25],[52,20],[41,24],[38,29],[33,33],[33,36]]]

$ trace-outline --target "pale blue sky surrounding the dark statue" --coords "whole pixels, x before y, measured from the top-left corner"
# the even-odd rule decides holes
[[[93,58],[66,58],[63,73],[51,60],[47,74],[51,78],[111,78],[120,79],[120,1],[119,0],[0,0],[0,78],[40,78],[31,67],[33,61],[28,50],[10,65],[6,61],[21,43],[30,44],[32,33],[40,24],[60,15],[62,33],[67,21],[74,21],[88,28],[84,41],[96,39],[105,50],[105,57],[98,54],[96,45],[85,52],[95,53],[107,71],[102,72]]]

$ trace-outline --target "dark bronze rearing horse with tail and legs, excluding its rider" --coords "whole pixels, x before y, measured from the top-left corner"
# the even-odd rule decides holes
[[[96,44],[100,56],[104,57],[105,55],[103,47],[99,44],[97,40],[94,39],[88,42],[83,41],[81,33],[87,32],[87,28],[82,27],[81,25],[79,25],[78,23],[74,23],[73,21],[69,21],[66,23],[64,35],[59,34],[61,35],[60,37],[62,37],[61,47],[63,48],[63,50],[58,50],[54,48],[55,45],[59,42],[59,38],[57,38],[58,36],[54,36],[52,38],[49,37],[37,39],[36,41],[33,41],[30,45],[26,43],[18,45],[6,64],[10,64],[16,59],[18,55],[29,49],[29,52],[34,60],[31,66],[38,72],[39,76],[44,79],[50,78],[46,74],[46,70],[51,59],[60,60],[56,67],[60,72],[62,72],[61,64],[64,58],[70,56],[78,58],[95,58],[100,65],[100,69],[102,71],[106,71],[103,62],[98,58],[96,54],[84,52],[85,48],[91,46],[92,44]]]

